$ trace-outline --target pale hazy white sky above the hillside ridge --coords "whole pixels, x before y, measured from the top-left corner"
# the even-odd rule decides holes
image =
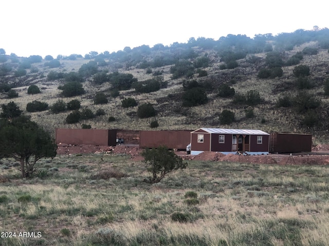
[[[0,48],[18,56],[85,55],[327,27],[327,4],[313,0],[3,0]]]

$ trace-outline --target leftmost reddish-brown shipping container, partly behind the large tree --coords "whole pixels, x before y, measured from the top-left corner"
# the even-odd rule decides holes
[[[107,146],[112,143],[109,135],[114,135],[114,132],[109,134],[105,129],[56,129],[56,144]]]

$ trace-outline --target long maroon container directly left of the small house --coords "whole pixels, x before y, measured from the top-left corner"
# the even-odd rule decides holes
[[[169,149],[186,150],[191,142],[191,131],[140,131],[140,148],[167,146]]]

